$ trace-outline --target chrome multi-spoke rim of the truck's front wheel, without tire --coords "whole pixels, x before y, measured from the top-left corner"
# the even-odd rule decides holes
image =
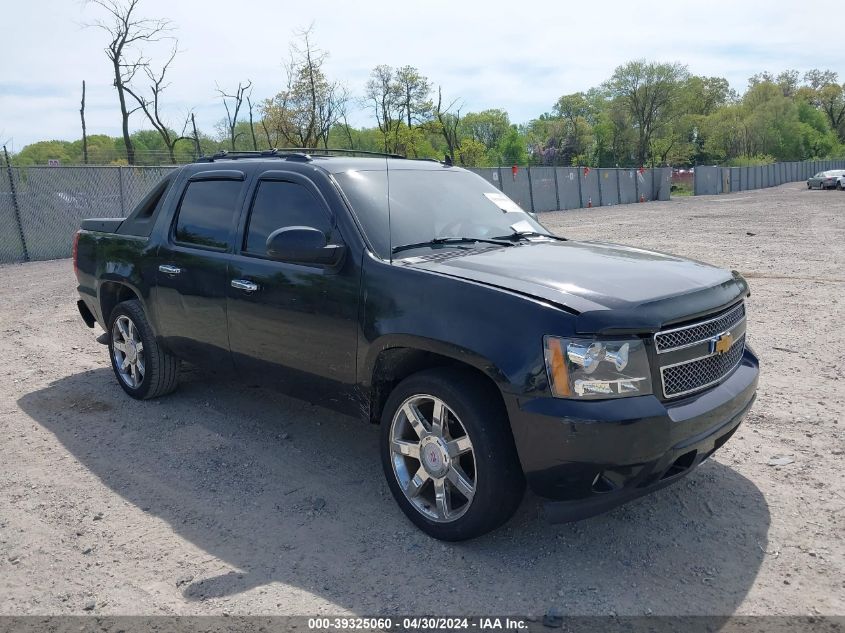
[[[426,518],[461,518],[475,496],[472,441],[460,419],[440,398],[426,394],[402,403],[390,425],[393,474],[405,497]]]

